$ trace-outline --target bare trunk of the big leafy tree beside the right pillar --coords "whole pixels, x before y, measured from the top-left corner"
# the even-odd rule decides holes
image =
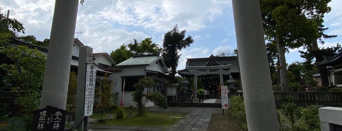
[[[285,44],[278,38],[275,38],[278,48],[278,60],[279,60],[279,70],[280,70],[280,87],[281,91],[290,91],[286,78],[286,58],[285,58]]]

